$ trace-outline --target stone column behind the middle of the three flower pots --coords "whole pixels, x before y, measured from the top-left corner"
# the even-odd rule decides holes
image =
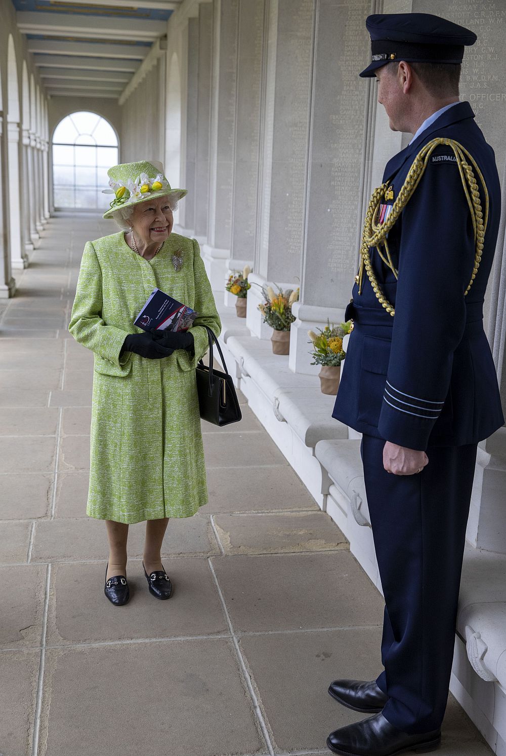
[[[267,0],[261,100],[261,169],[255,274],[251,282],[296,287],[301,278],[315,0]],[[251,333],[262,323],[258,285],[248,292]]]

